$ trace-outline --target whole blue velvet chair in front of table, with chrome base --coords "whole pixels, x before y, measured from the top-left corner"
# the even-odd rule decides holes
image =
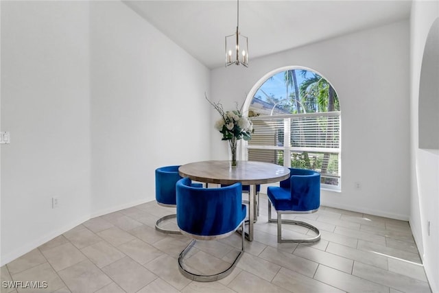
[[[193,187],[189,178],[178,181],[177,224],[183,235],[192,238],[189,245],[178,257],[178,268],[187,278],[195,281],[216,281],[222,279],[235,268],[244,253],[244,226],[246,205],[242,204],[241,183],[227,187]],[[198,274],[189,272],[183,266],[185,255],[195,240],[215,240],[228,237],[242,226],[241,251],[235,261],[224,271],[217,274]]]

